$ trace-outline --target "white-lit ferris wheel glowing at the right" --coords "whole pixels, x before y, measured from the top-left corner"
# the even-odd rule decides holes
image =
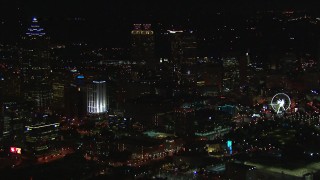
[[[285,93],[278,93],[272,97],[271,107],[277,114],[282,114],[290,108],[290,97]]]

